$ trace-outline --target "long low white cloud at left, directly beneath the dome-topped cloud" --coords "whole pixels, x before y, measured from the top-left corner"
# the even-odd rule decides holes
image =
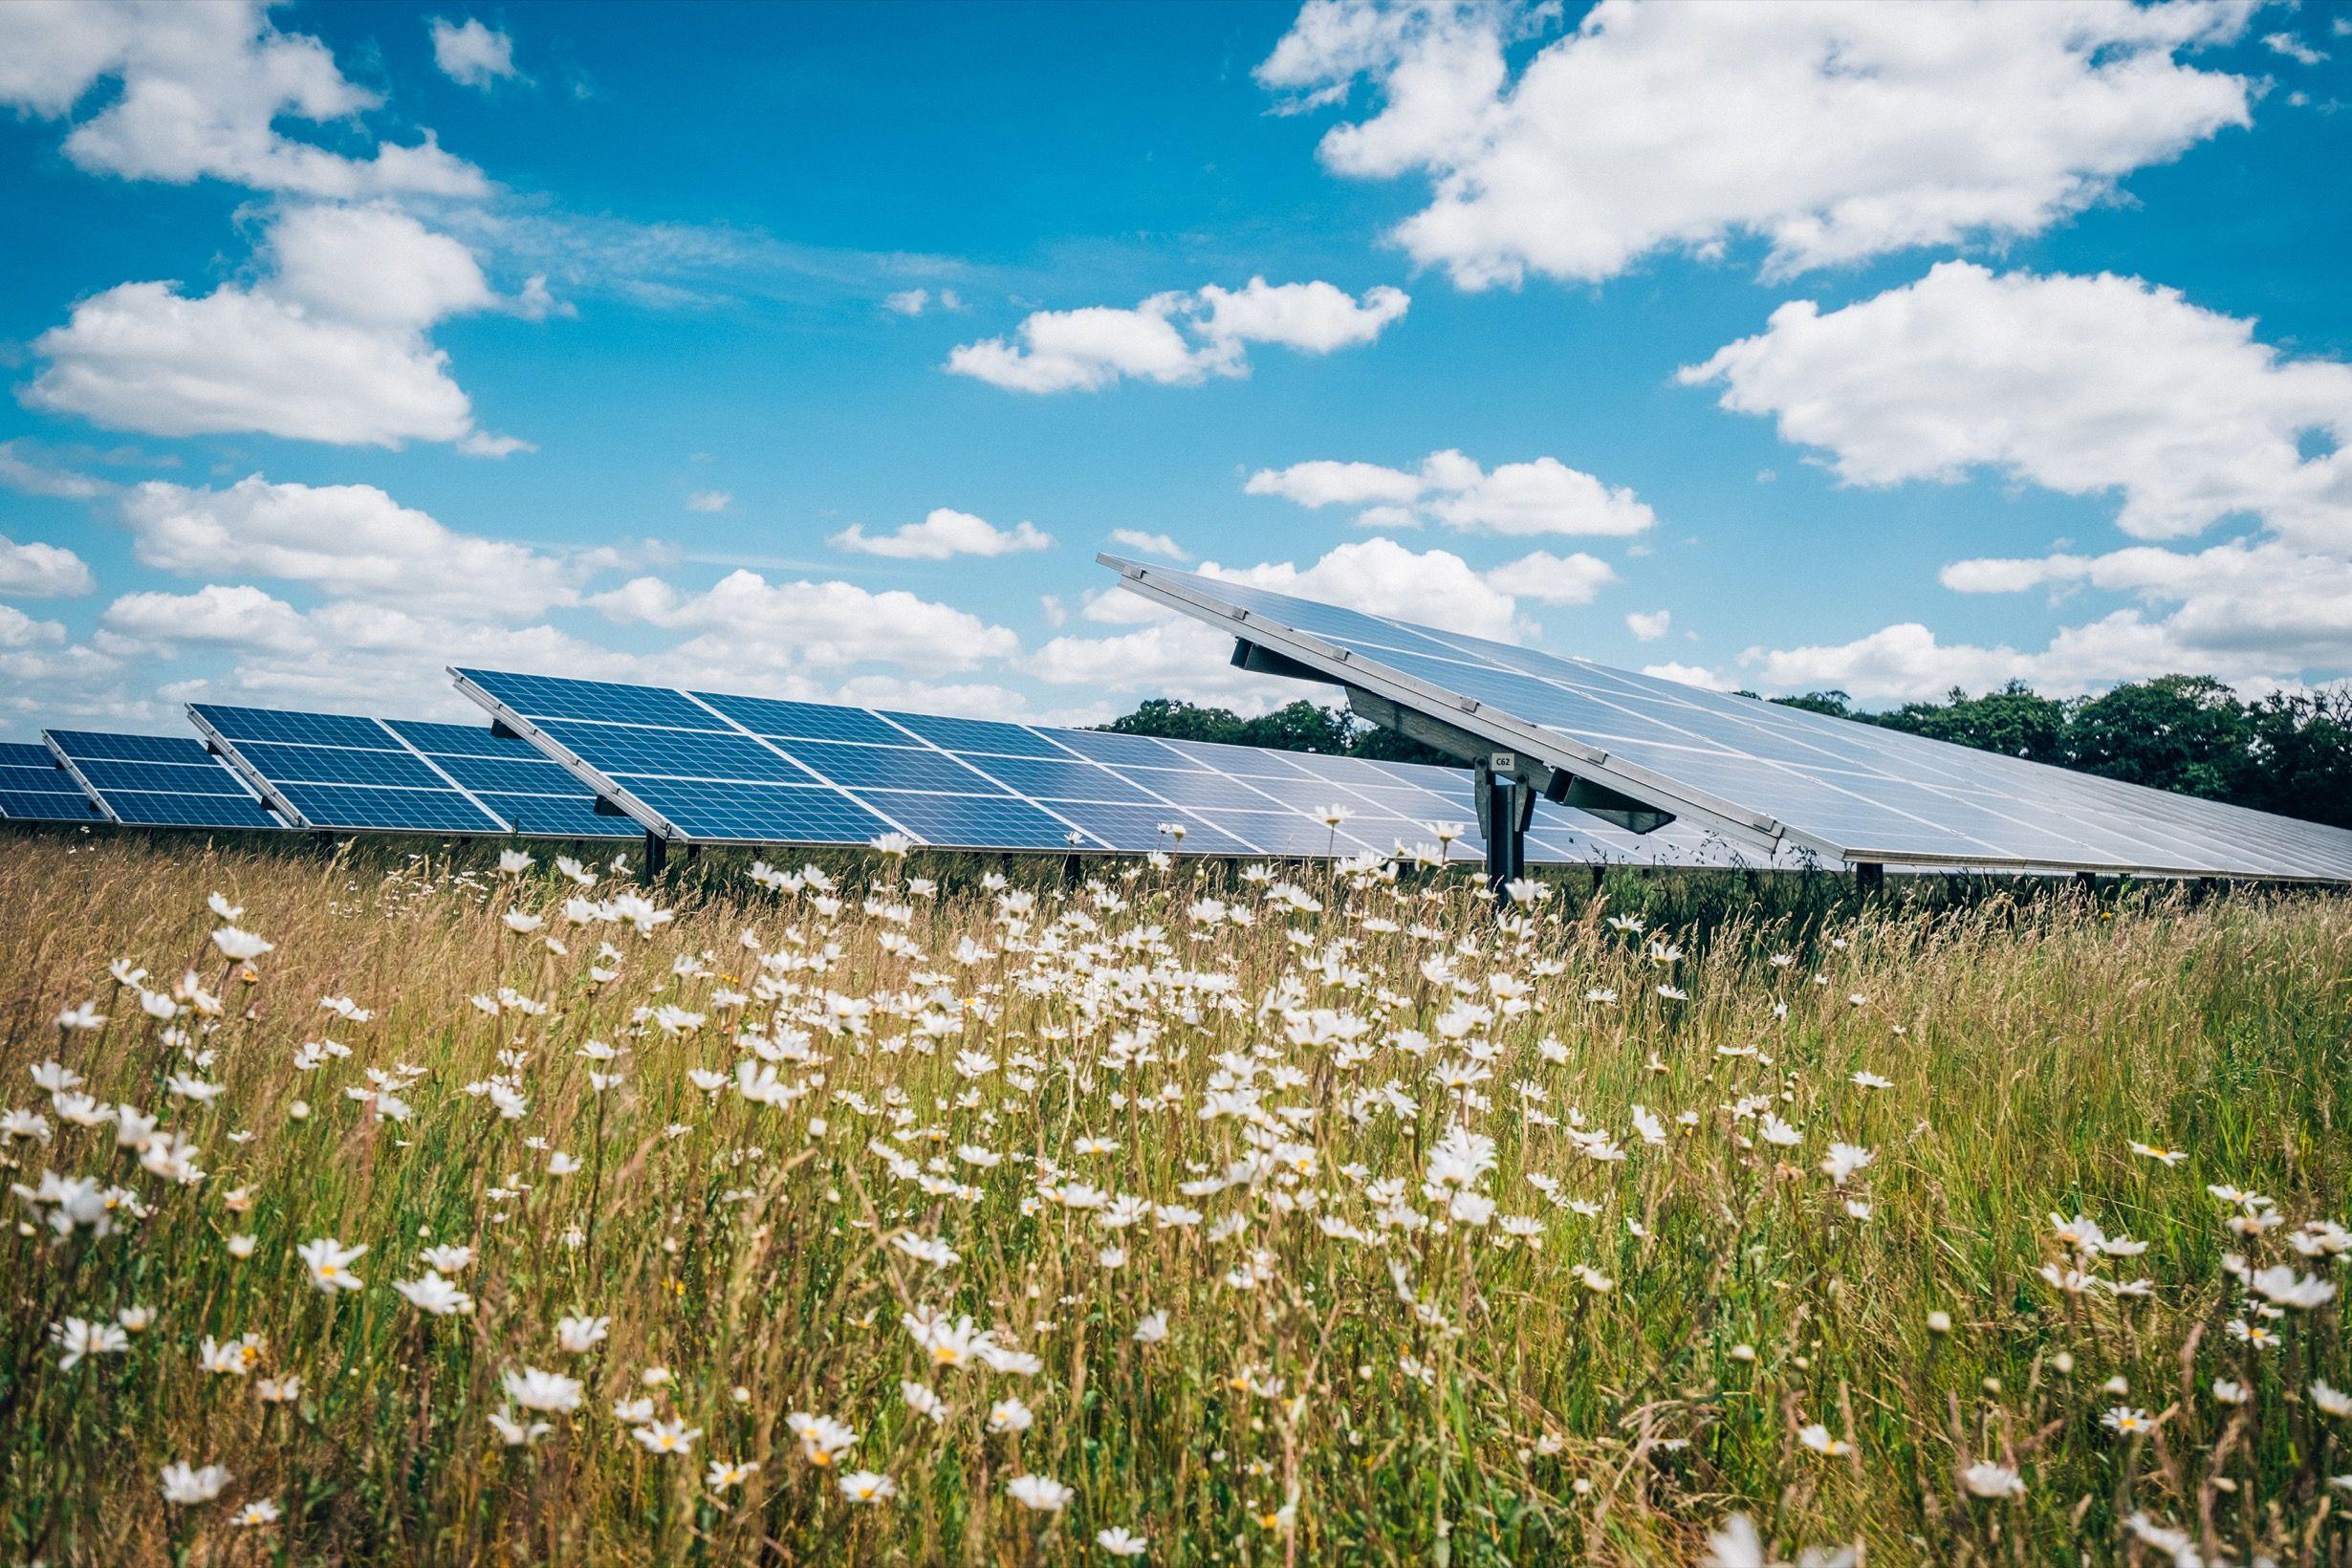
[[[553,555],[459,534],[374,484],[228,489],[146,482],[122,491],[139,559],[183,576],[254,574],[339,599],[419,614],[527,621],[576,599],[581,569]]]

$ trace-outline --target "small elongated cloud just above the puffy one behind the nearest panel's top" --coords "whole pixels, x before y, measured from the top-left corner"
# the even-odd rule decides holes
[[[1357,522],[1374,529],[1442,522],[1465,534],[1642,534],[1658,515],[1625,487],[1611,487],[1559,458],[1486,470],[1461,451],[1432,451],[1416,473],[1378,463],[1291,463],[1261,468],[1242,484],[1251,496],[1298,505],[1369,505]]]

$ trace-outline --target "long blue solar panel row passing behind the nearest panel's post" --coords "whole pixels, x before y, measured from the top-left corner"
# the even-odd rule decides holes
[[[677,844],[920,844],[995,851],[1357,856],[1472,823],[1470,776],[715,691],[454,670],[459,689]],[[1341,809],[1334,825],[1329,806]],[[1642,839],[1543,806],[1538,860],[1726,863],[1684,827]],[[1454,856],[1477,856],[1463,830]],[[1762,856],[1759,856],[1762,858]]]

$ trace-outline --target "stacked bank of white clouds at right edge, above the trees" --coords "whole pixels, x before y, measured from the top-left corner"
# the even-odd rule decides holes
[[[2288,360],[2251,320],[2136,277],[1950,261],[1842,310],[1783,306],[1684,378],[1776,416],[1783,440],[1851,484],[1994,473],[2112,498],[2117,529],[2143,541],[2260,529],[2197,552],[1952,562],[1943,585],[1957,592],[2093,590],[2136,607],[2039,651],[1893,625],[1764,656],[1769,677],[1919,696],[2011,677],[2079,691],[2164,670],[2253,682],[2352,670],[2352,367]]]

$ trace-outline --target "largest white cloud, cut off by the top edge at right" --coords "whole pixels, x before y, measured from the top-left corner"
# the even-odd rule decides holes
[[[1395,237],[1461,287],[1602,280],[1733,235],[1788,273],[2034,235],[2246,125],[2251,82],[2178,54],[2237,38],[2249,12],[1602,0],[1512,75],[1505,49],[1543,7],[1310,0],[1258,80],[1301,108],[1359,75],[1378,87],[1322,160],[1425,174],[1432,200]]]

